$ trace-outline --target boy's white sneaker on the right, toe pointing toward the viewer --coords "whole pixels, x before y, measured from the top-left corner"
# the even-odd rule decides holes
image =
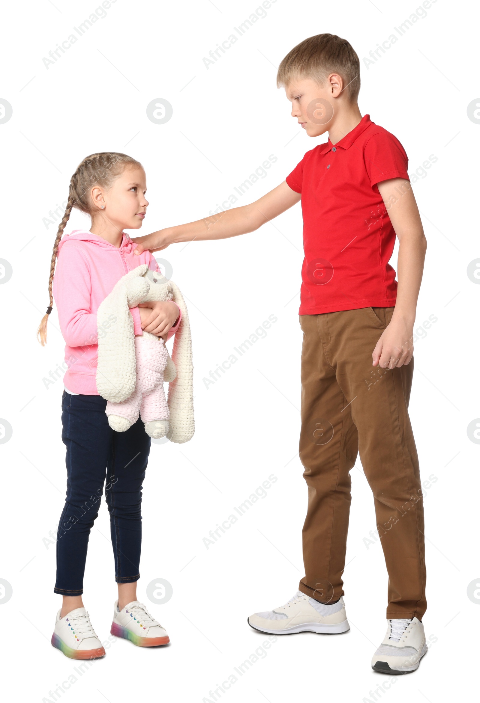
[[[423,624],[416,617],[387,622],[384,641],[372,657],[372,669],[393,674],[415,671],[428,650]]]

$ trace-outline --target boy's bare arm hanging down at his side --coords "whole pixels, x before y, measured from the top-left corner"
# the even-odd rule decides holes
[[[395,310],[372,354],[373,366],[398,368],[409,363],[413,355],[413,325],[427,240],[409,181],[398,178],[377,185],[400,247]]]

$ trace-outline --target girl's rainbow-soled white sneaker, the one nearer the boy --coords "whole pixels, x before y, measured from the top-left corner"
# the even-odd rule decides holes
[[[151,617],[138,600],[132,600],[123,610],[118,610],[118,600],[115,600],[110,633],[130,640],[137,647],[157,647],[170,642],[165,628]]]

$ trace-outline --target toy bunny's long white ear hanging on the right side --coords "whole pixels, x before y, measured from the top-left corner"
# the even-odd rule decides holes
[[[170,408],[170,432],[168,439],[184,444],[194,436],[194,367],[191,361],[191,334],[187,306],[177,285],[170,280],[173,300],[182,312],[182,320],[175,333],[172,360],[177,368],[177,377],[168,387]]]

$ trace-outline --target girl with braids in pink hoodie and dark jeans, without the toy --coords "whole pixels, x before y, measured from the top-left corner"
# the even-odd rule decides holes
[[[149,252],[133,254],[124,228],[139,229],[149,205],[141,164],[121,153],[92,154],[70,180],[65,214],[58,227],[49,278],[50,304],[39,325],[41,344],[53,295],[65,339],[65,392],[62,439],[67,464],[67,495],[57,534],[55,593],[63,595],[51,643],[72,659],[103,657],[105,650],[82,601],[89,533],[99,512],[103,483],[110,512],[115,559],[115,602],[111,632],[149,647],[169,642],[165,629],[137,600],[141,549],[141,483],[150,437],[139,420],[126,432],[114,432],[105,413],[106,400],[96,389],[96,311],[122,276],[148,264],[159,271]],[[89,231],[75,230],[62,239],[72,207],[91,217]],[[57,260],[58,259],[58,260]],[[55,276],[53,277],[53,273]],[[53,284],[53,285],[52,285]],[[139,304],[131,309],[134,333],[142,330],[167,339],[181,314],[174,302]]]

